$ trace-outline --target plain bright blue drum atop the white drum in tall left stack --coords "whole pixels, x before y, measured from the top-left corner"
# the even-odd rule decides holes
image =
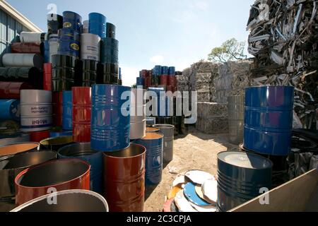
[[[90,13],[88,32],[98,35],[101,38],[106,37],[106,17],[100,13]]]

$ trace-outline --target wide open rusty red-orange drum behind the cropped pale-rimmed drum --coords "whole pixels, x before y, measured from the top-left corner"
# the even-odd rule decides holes
[[[16,205],[52,191],[90,189],[90,165],[83,160],[52,160],[20,172],[15,179]]]

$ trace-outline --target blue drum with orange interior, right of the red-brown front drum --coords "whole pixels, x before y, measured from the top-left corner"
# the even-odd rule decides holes
[[[163,179],[163,134],[147,133],[133,143],[146,148],[146,186],[160,184]]]

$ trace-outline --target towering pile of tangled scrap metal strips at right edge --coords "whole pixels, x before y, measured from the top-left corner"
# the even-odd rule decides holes
[[[317,128],[317,9],[314,0],[257,0],[247,24],[252,85],[293,85],[298,128]]]

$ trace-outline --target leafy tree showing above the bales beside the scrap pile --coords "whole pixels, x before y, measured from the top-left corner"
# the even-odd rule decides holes
[[[245,42],[238,42],[232,38],[224,42],[220,47],[212,49],[208,54],[208,60],[213,62],[226,62],[232,60],[247,59],[244,54]]]

